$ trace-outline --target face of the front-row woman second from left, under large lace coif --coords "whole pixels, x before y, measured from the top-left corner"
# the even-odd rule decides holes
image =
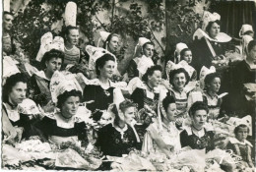
[[[70,96],[61,107],[61,114],[64,118],[71,118],[76,115],[80,103],[79,96]]]

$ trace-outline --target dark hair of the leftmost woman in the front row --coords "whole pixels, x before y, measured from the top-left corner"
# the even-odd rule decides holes
[[[6,83],[3,86],[2,94],[3,94],[3,101],[8,101],[9,93],[12,91],[13,87],[16,86],[18,83],[28,83],[28,78],[23,73],[14,74],[6,79]]]

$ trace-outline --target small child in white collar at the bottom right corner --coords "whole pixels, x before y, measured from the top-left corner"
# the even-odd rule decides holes
[[[249,133],[249,128],[245,124],[240,124],[234,128],[235,138],[230,138],[229,143],[226,145],[226,149],[233,150],[238,156],[242,157],[242,165],[245,167],[254,168],[252,162],[252,144],[246,141]]]

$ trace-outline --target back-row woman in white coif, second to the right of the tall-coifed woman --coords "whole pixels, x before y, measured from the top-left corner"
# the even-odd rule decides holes
[[[127,68],[129,80],[135,77],[141,78],[142,75],[146,73],[147,69],[154,65],[152,57],[154,55],[155,44],[145,37],[140,37],[138,45],[142,47],[142,57],[136,57],[130,61]],[[136,47],[138,45],[136,45]]]

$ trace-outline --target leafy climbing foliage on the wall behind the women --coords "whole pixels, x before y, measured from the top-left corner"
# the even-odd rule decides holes
[[[13,35],[21,42],[26,55],[33,60],[39,48],[40,37],[48,30],[62,34],[63,13],[69,0],[31,0],[18,10]],[[127,61],[133,58],[138,38],[155,42],[155,61],[164,64],[177,42],[189,43],[199,27],[200,14],[208,3],[202,0],[74,0],[78,5],[77,25],[81,30],[80,47],[96,45],[99,30],[121,35],[122,43],[117,57],[119,71],[125,71]],[[199,4],[201,12],[194,8]],[[167,38],[166,38],[167,37]]]

